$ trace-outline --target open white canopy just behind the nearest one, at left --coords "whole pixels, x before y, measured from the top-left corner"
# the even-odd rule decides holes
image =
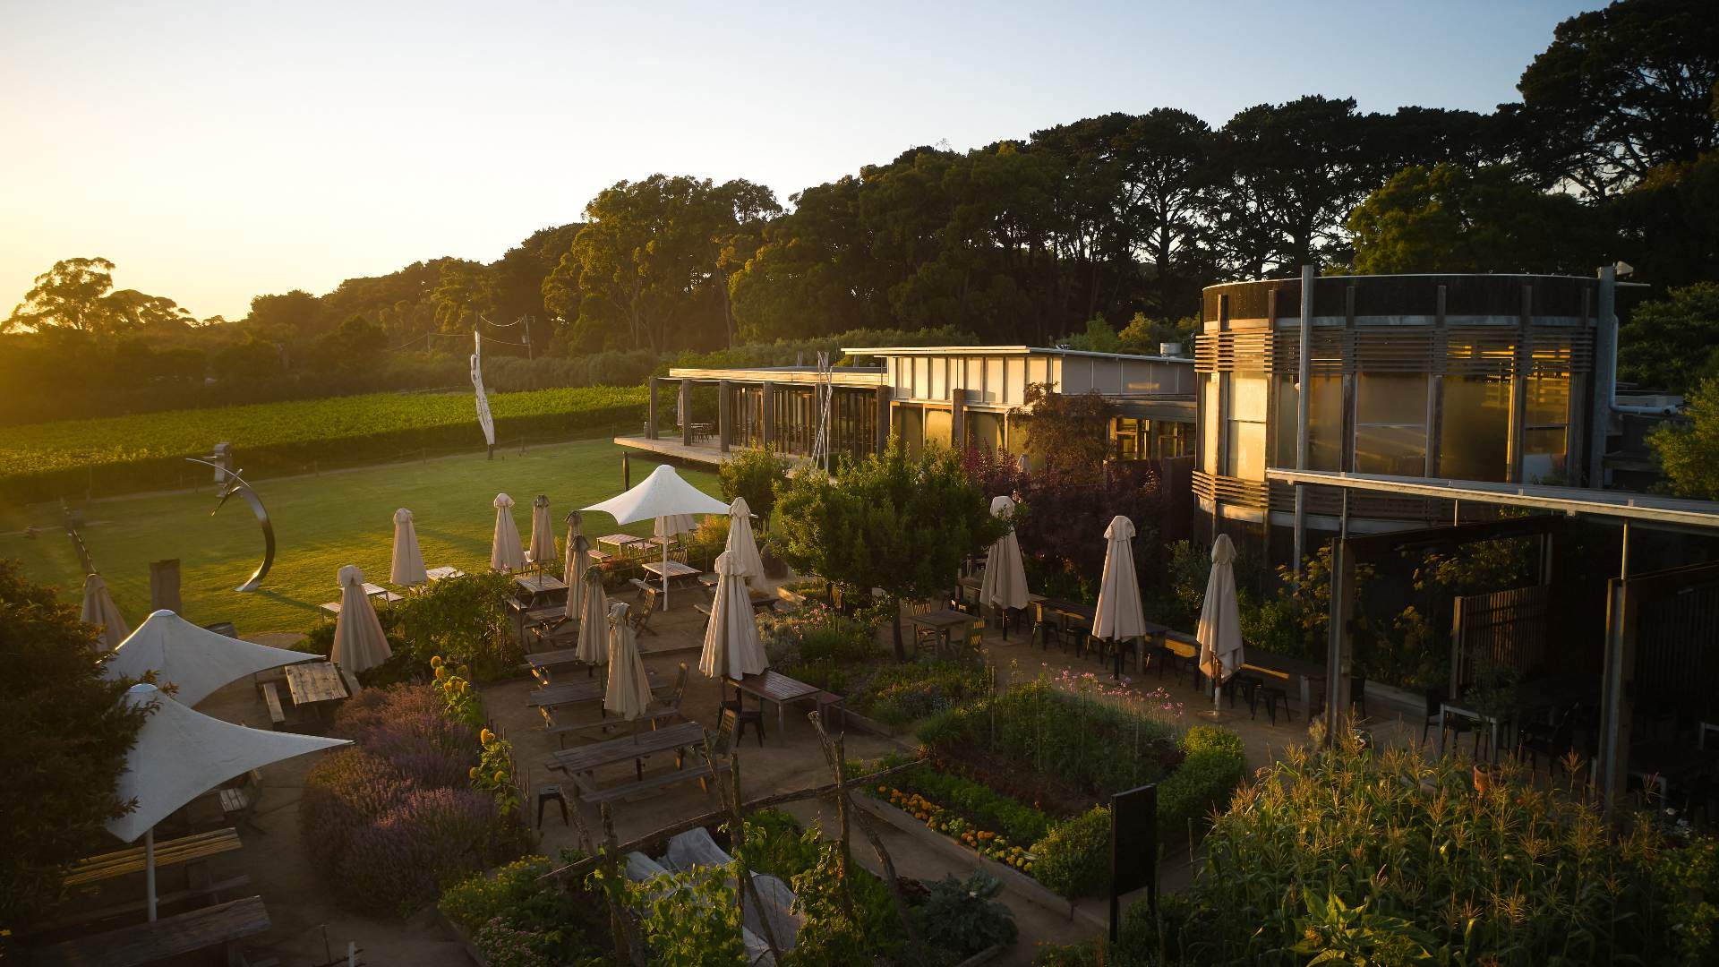
[[[156,685],[174,685],[174,697],[196,705],[229,681],[284,664],[316,661],[309,652],[272,649],[198,628],[172,611],[156,611],[113,649],[101,666],[103,678],[143,678],[156,673]]]

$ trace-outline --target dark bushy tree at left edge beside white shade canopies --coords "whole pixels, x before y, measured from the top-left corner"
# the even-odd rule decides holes
[[[100,678],[91,625],[53,588],[0,561],[0,927],[62,895],[65,867],[112,848],[105,824],[132,809],[117,795],[146,711],[120,702],[129,681]]]

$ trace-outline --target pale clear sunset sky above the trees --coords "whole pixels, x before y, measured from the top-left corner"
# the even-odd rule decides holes
[[[779,200],[916,145],[1301,95],[1490,110],[1551,0],[0,0],[0,313],[55,260],[198,317],[492,262],[653,172]]]

